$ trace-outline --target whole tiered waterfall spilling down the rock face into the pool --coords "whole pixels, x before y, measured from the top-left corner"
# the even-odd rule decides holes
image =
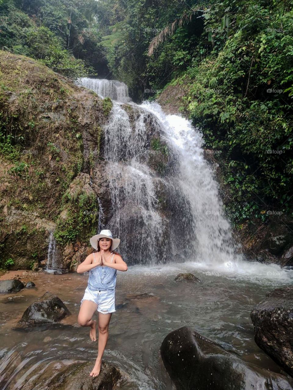
[[[102,96],[115,85],[88,78],[80,82],[107,91]],[[111,94],[122,103],[118,89]],[[120,103],[113,102],[103,129],[111,190],[105,226],[121,239],[125,261],[232,267],[241,255],[236,256],[218,185],[204,159],[201,131],[179,115],[165,115],[158,103]]]

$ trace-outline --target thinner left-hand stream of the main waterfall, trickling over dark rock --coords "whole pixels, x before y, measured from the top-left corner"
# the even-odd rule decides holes
[[[112,204],[110,225],[115,227],[117,236],[124,237],[127,253],[135,254],[136,261],[142,263],[146,259],[155,262],[158,246],[164,248],[154,173],[139,161],[147,145],[148,116],[140,110],[132,128],[127,113],[114,103],[104,126],[104,158]]]

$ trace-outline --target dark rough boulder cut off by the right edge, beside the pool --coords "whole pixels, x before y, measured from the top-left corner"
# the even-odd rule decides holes
[[[250,314],[255,342],[293,376],[293,287],[270,291],[266,297]]]

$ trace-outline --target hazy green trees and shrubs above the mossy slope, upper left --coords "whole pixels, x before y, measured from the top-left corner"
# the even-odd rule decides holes
[[[7,0],[0,7],[0,47],[73,79],[94,74],[105,62],[96,7],[95,0]]]

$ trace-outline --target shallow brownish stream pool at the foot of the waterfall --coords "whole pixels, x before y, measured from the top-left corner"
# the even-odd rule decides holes
[[[1,277],[19,275],[22,281],[36,284],[0,296],[2,390],[45,390],[48,379],[64,367],[94,363],[97,355],[98,342],[91,342],[89,329],[77,323],[87,277],[77,273],[26,275],[28,272],[11,271]],[[202,283],[175,282],[182,272],[193,273]],[[244,360],[280,372],[280,367],[255,344],[250,312],[267,291],[291,285],[292,280],[290,269],[260,263],[227,263],[217,268],[194,262],[130,266],[127,272],[118,273],[116,312],[111,318],[103,360],[129,375],[130,381],[123,389],[175,390],[164,368],[160,346],[168,333],[186,325]],[[36,327],[29,332],[13,329],[25,309],[46,291],[56,294],[70,310],[63,325]],[[150,297],[135,297],[143,293]]]

